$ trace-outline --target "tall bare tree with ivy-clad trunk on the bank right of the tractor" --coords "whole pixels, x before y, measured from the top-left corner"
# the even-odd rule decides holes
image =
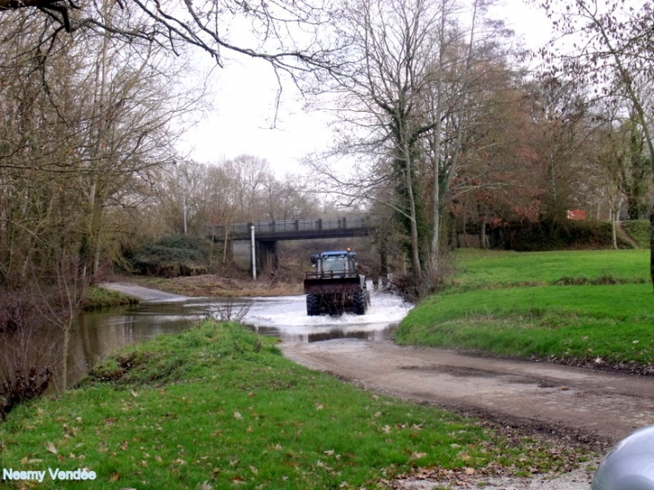
[[[438,269],[442,213],[459,172],[480,90],[485,4],[471,3],[469,25],[457,2],[359,0],[340,9],[337,30],[346,62],[324,96],[339,105],[335,153],[367,163],[346,171],[314,168],[340,192],[383,201],[408,236],[417,284]],[[386,194],[380,191],[384,189]]]

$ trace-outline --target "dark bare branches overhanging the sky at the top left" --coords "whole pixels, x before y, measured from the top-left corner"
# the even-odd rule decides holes
[[[117,13],[108,17],[108,9]],[[304,0],[229,0],[144,2],[105,0],[74,3],[72,0],[0,0],[0,13],[19,28],[24,21],[39,20],[41,35],[33,49],[49,51],[63,32],[88,31],[111,34],[126,44],[158,44],[177,53],[184,46],[202,49],[222,65],[229,55],[260,58],[276,69],[293,72],[331,68],[331,48],[317,36],[329,17],[323,5]],[[247,30],[251,36],[244,38]]]

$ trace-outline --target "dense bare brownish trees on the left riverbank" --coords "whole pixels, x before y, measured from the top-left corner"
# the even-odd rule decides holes
[[[197,97],[174,89],[176,70],[157,43],[116,46],[109,31],[51,39],[47,63],[25,56],[46,48],[43,21],[16,15],[0,16],[8,28],[0,52],[0,291],[26,292],[38,306],[31,334],[43,323],[56,327],[65,388],[83,290],[116,236],[133,228],[116,210],[138,206],[159,169],[176,161],[172,122]]]

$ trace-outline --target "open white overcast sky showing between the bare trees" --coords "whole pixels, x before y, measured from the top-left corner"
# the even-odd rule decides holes
[[[546,16],[523,0],[505,0],[492,12],[503,18],[529,47],[540,47],[550,38]],[[302,110],[297,90],[284,82],[280,112],[275,117],[278,83],[265,62],[241,59],[213,71],[214,109],[191,129],[179,150],[202,163],[250,154],[271,163],[278,176],[302,171],[299,160],[307,153],[321,151],[330,143],[327,118]]]

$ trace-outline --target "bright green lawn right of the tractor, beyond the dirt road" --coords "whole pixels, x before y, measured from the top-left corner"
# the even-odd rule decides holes
[[[455,254],[451,285],[400,323],[398,342],[567,363],[654,365],[649,251]]]

